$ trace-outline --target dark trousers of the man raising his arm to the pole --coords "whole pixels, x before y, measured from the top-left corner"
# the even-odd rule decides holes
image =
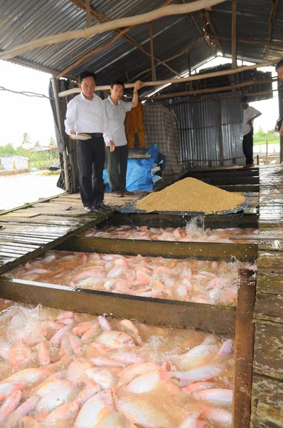
[[[127,145],[115,147],[114,152],[110,152],[110,147],[106,148],[107,175],[113,193],[123,193],[126,190],[128,153]]]

